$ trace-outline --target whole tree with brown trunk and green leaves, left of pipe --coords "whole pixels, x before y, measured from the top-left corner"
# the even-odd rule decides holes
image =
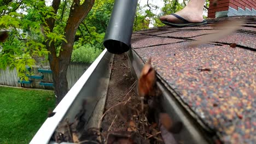
[[[67,93],[66,72],[75,33],[94,5],[94,0],[60,1],[4,1],[0,2],[0,28],[9,31],[9,38],[1,44],[0,68],[16,67],[19,77],[27,79],[26,65],[33,65],[35,57],[47,56],[57,103]]]

